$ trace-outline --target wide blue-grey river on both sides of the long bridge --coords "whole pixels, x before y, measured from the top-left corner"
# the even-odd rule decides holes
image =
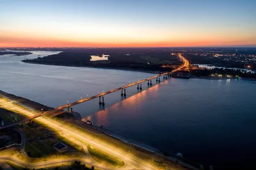
[[[58,52],[33,52],[28,59]],[[46,66],[0,55],[0,90],[58,107],[153,74],[115,69]],[[156,81],[153,81],[156,84]],[[142,92],[127,89],[74,107],[95,125],[166,153],[216,168],[253,166],[256,84],[246,80],[169,79]],[[244,166],[243,166],[244,167]],[[243,169],[246,169],[245,167]]]

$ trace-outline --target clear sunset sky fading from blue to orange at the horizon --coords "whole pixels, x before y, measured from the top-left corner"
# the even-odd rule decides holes
[[[0,0],[0,47],[256,46],[255,0]]]

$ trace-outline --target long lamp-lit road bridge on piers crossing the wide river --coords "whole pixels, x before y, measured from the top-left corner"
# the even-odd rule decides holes
[[[84,102],[86,102],[86,101],[90,101],[90,100],[95,99],[95,98],[98,98],[98,97],[99,97],[99,99],[100,99],[100,97],[102,97],[102,102],[100,101],[100,104],[104,104],[104,98],[103,98],[103,96],[105,96],[105,95],[107,95],[107,94],[111,94],[111,93],[116,92],[116,91],[118,91],[118,90],[122,90],[122,92],[123,92],[123,90],[125,90],[126,88],[132,87],[132,86],[134,86],[134,85],[138,85],[137,88],[139,89],[139,88],[141,88],[141,87],[139,87],[139,85],[141,85],[141,83],[143,83],[143,82],[145,82],[145,81],[148,81],[148,83],[149,83],[149,81],[150,81],[150,83],[151,83],[152,79],[154,79],[154,78],[156,78],[156,81],[160,81],[160,77],[161,77],[161,76],[166,76],[166,78],[167,78],[167,76],[168,76],[169,74],[172,74],[172,73],[174,73],[174,72],[180,71],[180,70],[184,69],[185,67],[188,67],[188,66],[189,66],[189,61],[188,61],[187,59],[185,59],[180,53],[178,53],[177,55],[180,57],[180,59],[182,59],[183,64],[182,64],[182,66],[178,67],[177,69],[173,69],[173,71],[166,72],[166,73],[163,73],[163,74],[158,74],[158,75],[156,75],[156,76],[152,76],[152,77],[150,77],[150,78],[146,78],[146,79],[143,79],[143,80],[140,80],[140,81],[136,81],[136,82],[134,82],[134,83],[130,83],[130,84],[128,84],[128,85],[124,85],[124,86],[122,86],[122,87],[119,87],[119,88],[116,88],[116,89],[113,89],[113,90],[109,90],[108,92],[102,92],[102,93],[97,94],[97,95],[95,95],[95,96],[88,97],[88,98],[86,98],[86,99],[81,99],[81,100],[76,101],[76,102],[74,102],[74,103],[65,104],[65,105],[63,105],[63,106],[60,106],[60,107],[54,109],[54,110],[49,110],[49,111],[45,111],[45,112],[43,112],[43,113],[38,113],[38,115],[34,115],[34,116],[32,116],[32,117],[25,118],[24,120],[19,120],[19,121],[17,121],[17,122],[13,122],[12,124],[4,125],[4,126],[0,127],[0,130],[1,130],[1,129],[6,129],[6,128],[8,128],[8,127],[13,127],[14,125],[19,125],[19,124],[21,124],[21,123],[23,123],[23,122],[28,122],[29,120],[32,120],[32,119],[38,118],[38,117],[42,117],[43,115],[49,115],[49,114],[51,114],[51,113],[56,113],[56,112],[60,112],[60,113],[61,113],[61,111],[63,111],[63,109],[65,109],[65,108],[68,108],[68,110],[69,110],[69,108],[70,108],[71,106],[75,106],[75,105],[77,105],[77,104],[84,103]],[[125,95],[125,94],[124,94],[124,95]]]

